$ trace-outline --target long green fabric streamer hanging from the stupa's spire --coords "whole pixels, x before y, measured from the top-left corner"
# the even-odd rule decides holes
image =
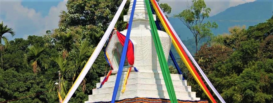
[[[160,38],[159,38],[159,35],[157,32],[156,24],[154,22],[154,17],[153,17],[152,10],[150,7],[150,2],[149,2],[149,0],[145,0],[145,3],[146,3],[148,16],[149,16],[149,22],[150,22],[150,27],[151,27],[151,31],[152,31],[152,37],[154,40],[154,46],[156,49],[156,53],[158,55],[158,60],[159,60],[162,74],[163,74],[164,82],[165,82],[165,85],[167,88],[167,92],[170,97],[171,103],[177,103],[177,99],[176,99],[176,95],[175,95],[175,91],[174,91],[174,85],[173,85],[170,71],[168,68],[168,64],[167,64],[167,61],[166,61],[166,58],[164,55],[163,47],[161,45]]]

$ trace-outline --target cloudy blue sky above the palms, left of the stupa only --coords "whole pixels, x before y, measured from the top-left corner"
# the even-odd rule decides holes
[[[0,0],[0,21],[14,28],[14,38],[42,36],[58,28],[59,15],[67,0]],[[14,39],[9,37],[10,40]]]

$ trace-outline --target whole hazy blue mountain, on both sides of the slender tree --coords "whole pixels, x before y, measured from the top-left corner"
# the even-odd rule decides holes
[[[213,29],[214,35],[228,33],[228,28],[232,26],[255,26],[265,22],[272,16],[273,0],[257,0],[238,6],[230,7],[223,12],[207,18],[211,22],[218,24],[217,29]],[[190,30],[178,18],[169,18],[181,40],[193,38]]]

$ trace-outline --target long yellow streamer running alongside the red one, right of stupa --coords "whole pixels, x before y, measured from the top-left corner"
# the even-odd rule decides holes
[[[152,1],[151,1],[152,2]],[[156,8],[155,4],[152,2],[152,5],[154,8]],[[193,70],[191,69],[189,63],[187,62],[185,56],[182,54],[181,50],[179,49],[177,43],[174,41],[174,37],[171,35],[170,30],[168,29],[168,27],[166,26],[166,23],[164,22],[163,18],[160,16],[160,13],[157,9],[154,9],[156,11],[156,14],[158,15],[158,18],[160,19],[163,27],[165,28],[167,34],[169,34],[169,36],[172,38],[172,43],[174,45],[174,48],[177,50],[177,53],[179,54],[179,56],[181,57],[182,61],[185,63],[187,69],[190,71],[190,73],[193,75],[194,79],[197,81],[197,83],[201,86],[201,88],[203,89],[203,91],[205,92],[205,94],[209,97],[209,99],[211,100],[211,97],[209,96],[209,94],[206,92],[205,88],[201,85],[201,82],[199,81],[199,79],[197,78],[197,76],[195,75],[195,73],[193,72]]]

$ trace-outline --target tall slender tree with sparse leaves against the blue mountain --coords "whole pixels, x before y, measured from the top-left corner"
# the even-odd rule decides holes
[[[204,19],[209,17],[210,11],[211,9],[206,6],[204,0],[192,0],[192,5],[188,9],[174,15],[192,32],[195,38],[196,53],[200,40],[212,36],[210,29],[218,27],[216,22],[211,23],[208,21],[205,23]]]

